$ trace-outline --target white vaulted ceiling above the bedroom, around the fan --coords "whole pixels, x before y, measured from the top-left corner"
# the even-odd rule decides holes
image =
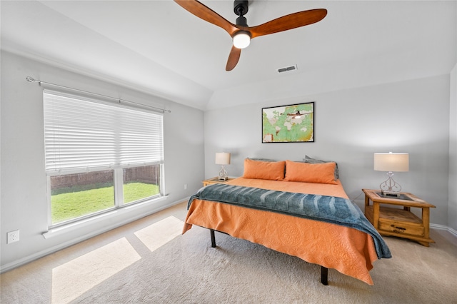
[[[201,2],[235,23],[233,1]],[[253,39],[229,72],[229,34],[171,0],[0,5],[2,49],[201,110],[448,74],[457,61],[457,1],[249,1],[249,26],[328,14]]]

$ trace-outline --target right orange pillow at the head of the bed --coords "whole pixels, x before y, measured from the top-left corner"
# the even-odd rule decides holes
[[[336,163],[297,163],[286,161],[284,181],[303,181],[305,183],[331,183],[335,180]]]

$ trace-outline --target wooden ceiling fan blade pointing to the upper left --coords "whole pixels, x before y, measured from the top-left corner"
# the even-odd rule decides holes
[[[182,8],[189,11],[189,13],[194,14],[195,16],[203,19],[204,21],[208,21],[210,24],[214,24],[216,26],[221,27],[230,36],[235,31],[238,31],[234,24],[231,24],[230,21],[224,19],[221,15],[217,14],[215,11],[210,9],[208,6],[205,6],[199,1],[196,0],[174,0],[177,4],[179,4]]]

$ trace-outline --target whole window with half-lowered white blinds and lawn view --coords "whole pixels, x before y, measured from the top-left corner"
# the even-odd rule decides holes
[[[161,196],[163,116],[44,91],[49,226]]]

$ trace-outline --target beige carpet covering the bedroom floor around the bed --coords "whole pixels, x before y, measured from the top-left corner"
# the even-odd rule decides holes
[[[211,248],[209,231],[199,227],[173,237],[185,208],[179,204],[2,274],[1,303],[457,303],[457,241],[445,231],[431,231],[436,244],[430,248],[386,238],[393,258],[374,263],[374,286],[336,270],[324,286],[318,265],[246,240],[216,233],[218,247]],[[151,250],[148,231],[160,227],[171,235]],[[75,260],[90,283],[65,275]],[[84,288],[69,292],[72,285]]]

